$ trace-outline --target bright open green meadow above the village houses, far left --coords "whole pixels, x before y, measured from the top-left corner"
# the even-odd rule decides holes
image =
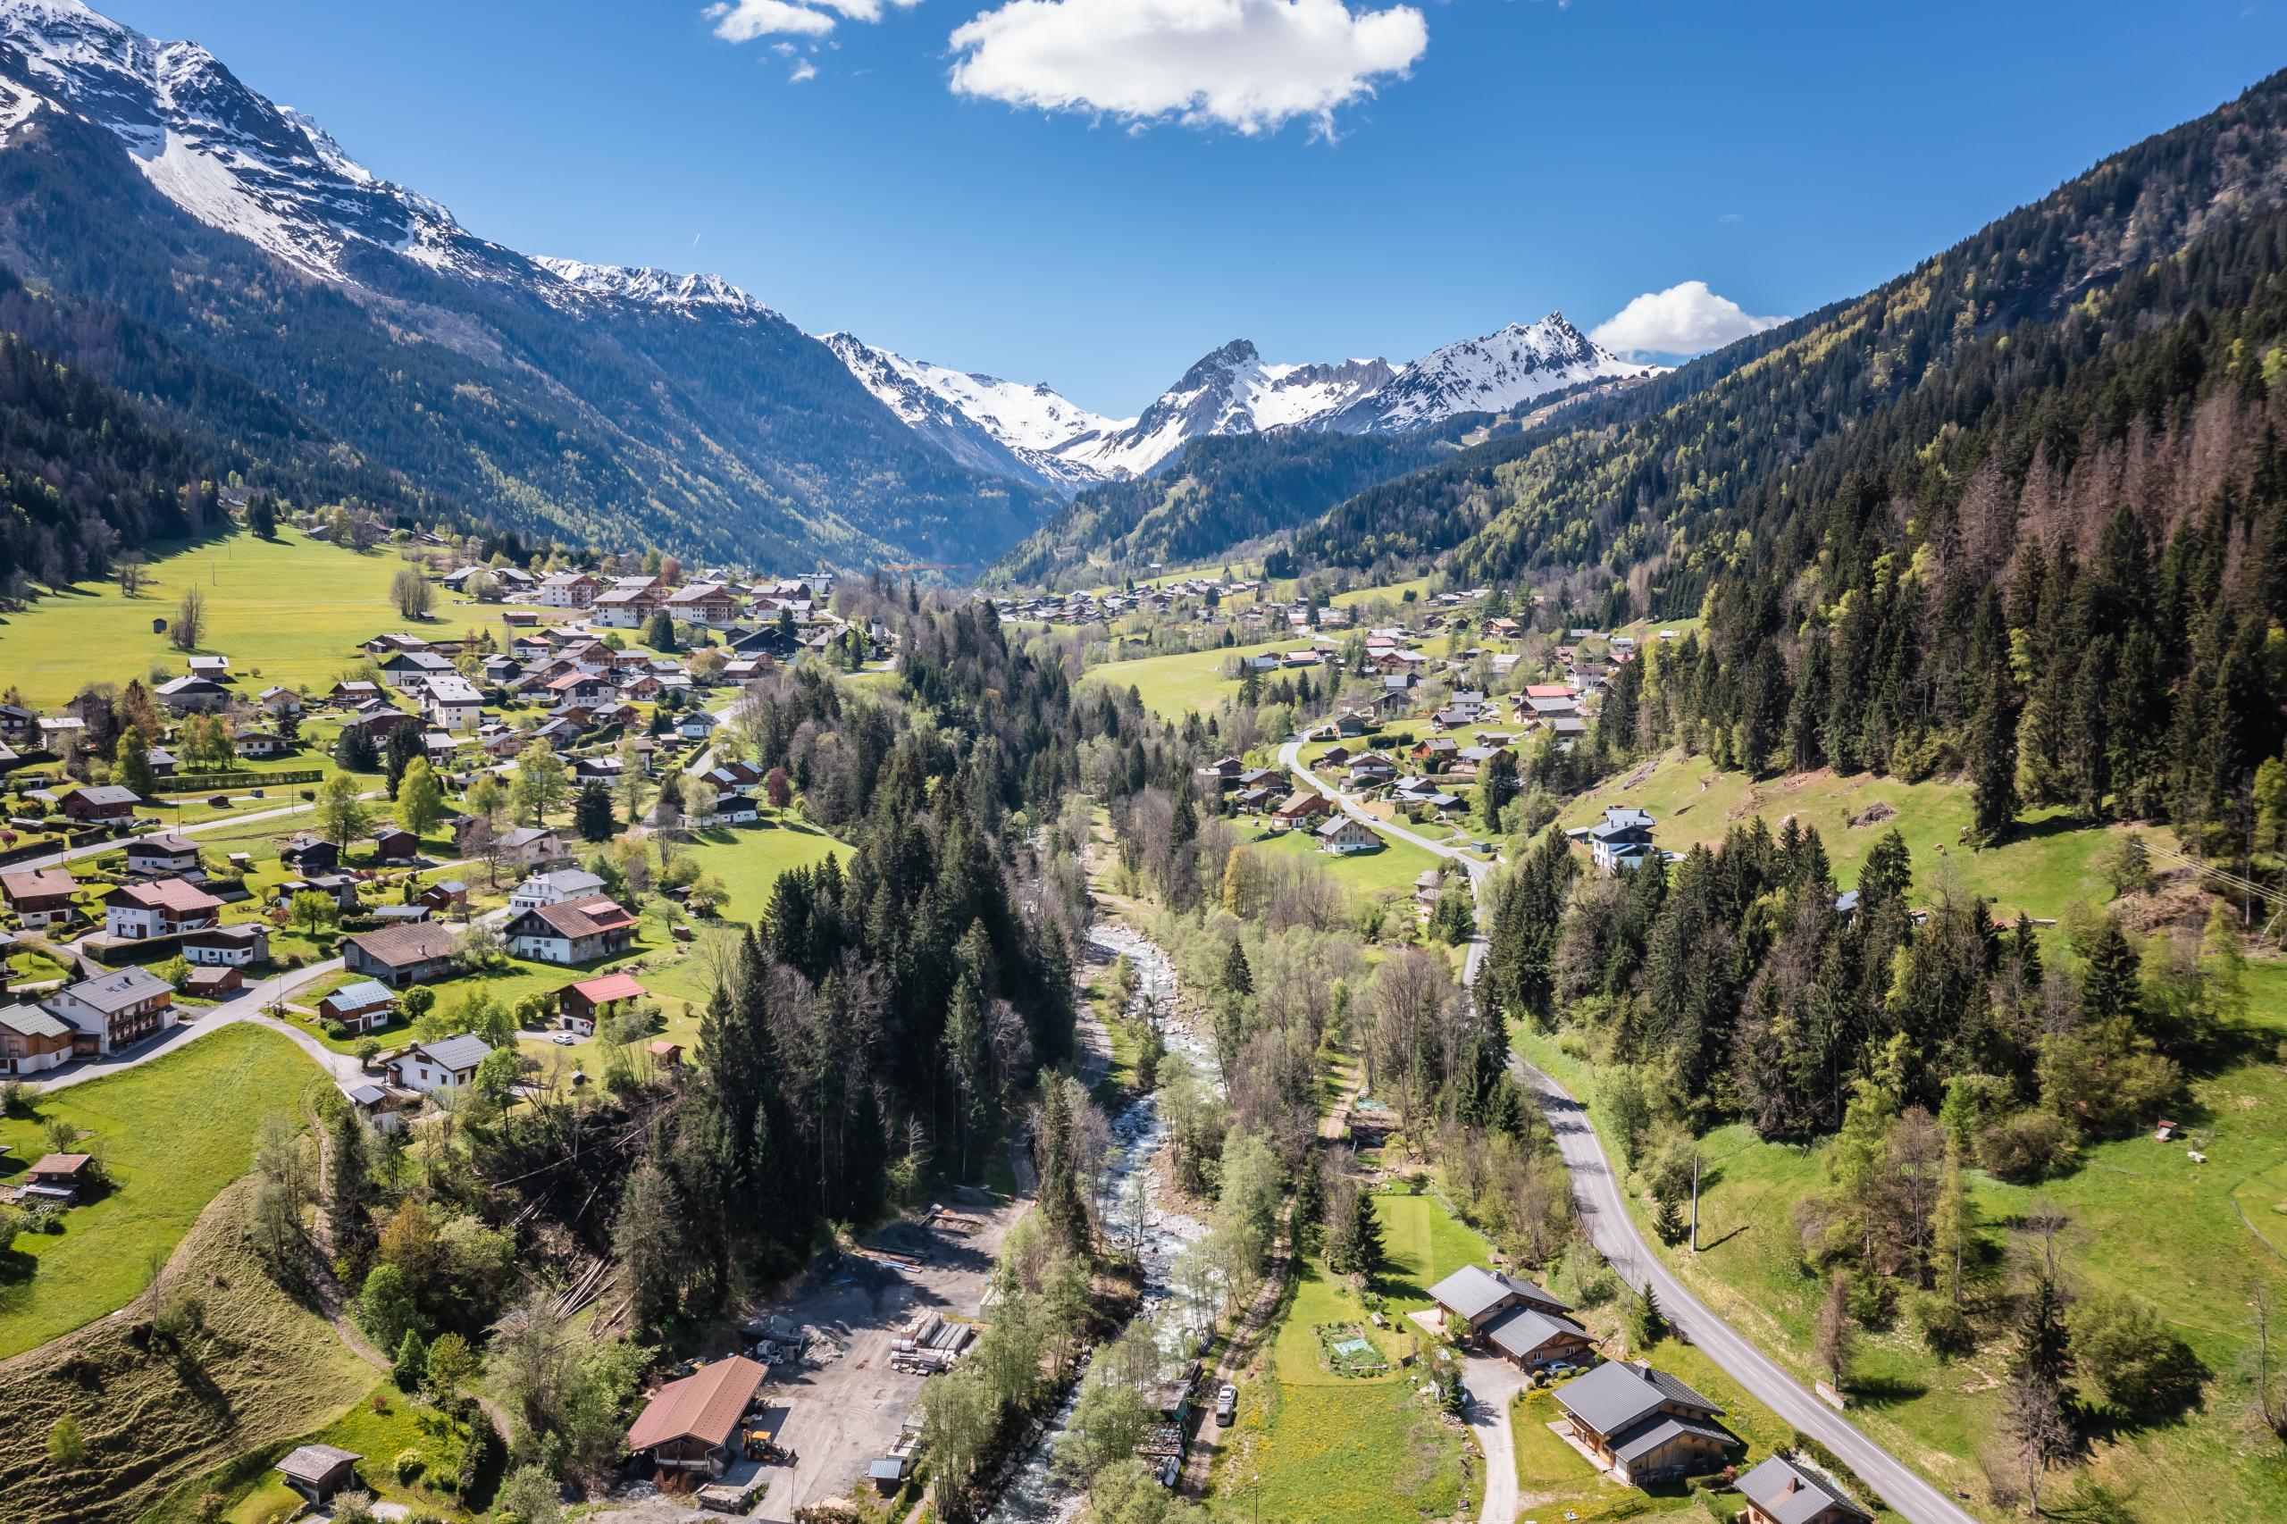
[[[181,673],[183,652],[151,634],[151,620],[172,625],[183,590],[197,586],[208,625],[199,650],[229,657],[238,686],[332,686],[359,641],[405,622],[389,600],[400,565],[387,549],[361,556],[295,529],[274,542],[222,535],[156,547],[142,597],[123,597],[119,584],[80,584],[0,625],[0,673],[32,705],[59,705],[89,682],[142,677],[153,664]]]

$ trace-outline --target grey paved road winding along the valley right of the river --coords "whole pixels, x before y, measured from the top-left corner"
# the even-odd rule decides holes
[[[1363,803],[1313,776],[1306,767],[1301,767],[1299,739],[1278,748],[1278,764],[1288,769],[1297,783],[1326,794],[1345,815],[1363,821],[1372,831],[1395,835],[1404,842],[1423,847],[1425,851],[1434,851],[1441,858],[1452,858],[1468,870],[1473,890],[1482,890],[1491,876],[1491,863],[1477,860],[1455,847],[1432,842],[1429,838],[1416,835],[1404,826],[1368,815]],[[1480,892],[1480,904],[1482,902],[1484,897]],[[1464,979],[1471,984],[1477,979],[1477,970],[1484,963],[1484,945],[1482,931],[1468,943]],[[1512,1057],[1509,1062],[1514,1064],[1519,1080],[1523,1080],[1525,1092],[1548,1117],[1548,1126],[1557,1140],[1557,1153],[1564,1158],[1564,1169],[1571,1174],[1573,1199],[1578,1201],[1580,1222],[1587,1229],[1589,1243],[1596,1245],[1596,1252],[1612,1263],[1612,1270],[1617,1270],[1621,1279],[1631,1286],[1649,1284],[1660,1302],[1660,1313],[1676,1332],[1706,1350],[1708,1359],[1713,1359],[1724,1375],[1745,1387],[1750,1396],[1818,1444],[1834,1451],[1834,1455],[1857,1471],[1859,1478],[1873,1487],[1894,1513],[1907,1519],[1907,1524],[1974,1524],[1971,1515],[1960,1503],[1949,1499],[1903,1460],[1868,1439],[1855,1423],[1850,1423],[1850,1419],[1834,1407],[1827,1407],[1825,1400],[1779,1368],[1777,1362],[1754,1348],[1754,1343],[1750,1343],[1738,1329],[1708,1311],[1706,1302],[1695,1297],[1690,1288],[1686,1288],[1683,1281],[1679,1281],[1667,1265],[1660,1263],[1660,1259],[1651,1252],[1651,1245],[1644,1243],[1644,1236],[1637,1231],[1635,1220],[1628,1217],[1628,1204],[1619,1194],[1619,1176],[1612,1172],[1603,1142],[1589,1124],[1587,1108],[1580,1105],[1580,1101],[1576,1101],[1562,1085],[1532,1064],[1525,1064],[1521,1057]],[[1480,1437],[1489,1442],[1487,1453],[1496,1453],[1493,1446],[1498,1439],[1493,1426],[1480,1426],[1473,1412],[1471,1428],[1477,1428]],[[1500,1428],[1505,1430],[1507,1426]],[[1514,1524],[1514,1490],[1489,1485],[1480,1524]]]

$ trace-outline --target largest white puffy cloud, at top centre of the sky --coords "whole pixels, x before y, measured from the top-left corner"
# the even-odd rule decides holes
[[[1240,133],[1331,130],[1427,46],[1411,5],[1345,0],[1006,0],[951,37],[958,94]]]

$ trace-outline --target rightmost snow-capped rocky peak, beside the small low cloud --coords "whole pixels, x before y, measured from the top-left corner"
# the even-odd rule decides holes
[[[1464,412],[1507,412],[1537,396],[1587,380],[1656,375],[1612,355],[1553,311],[1539,323],[1509,323],[1484,339],[1429,350],[1370,396],[1317,421],[1345,435],[1397,435]]]

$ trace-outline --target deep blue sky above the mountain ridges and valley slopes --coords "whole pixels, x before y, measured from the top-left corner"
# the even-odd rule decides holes
[[[1116,414],[1235,336],[1800,313],[2287,64],[2287,0],[94,2],[480,236]]]

